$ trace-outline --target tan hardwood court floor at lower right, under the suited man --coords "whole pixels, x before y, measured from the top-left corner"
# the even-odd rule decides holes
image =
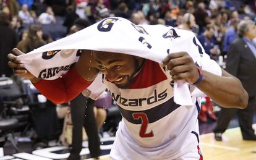
[[[256,130],[256,124],[254,124]],[[206,160],[252,160],[256,159],[256,141],[242,140],[240,128],[231,128],[223,134],[223,141],[216,141],[213,133],[200,135],[200,148]],[[101,156],[108,160],[108,155]],[[89,160],[89,159],[87,159]],[[90,159],[93,160],[93,159]]]

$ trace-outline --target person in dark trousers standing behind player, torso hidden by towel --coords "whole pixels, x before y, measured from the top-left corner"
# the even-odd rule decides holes
[[[90,23],[87,20],[80,18],[76,19],[74,25],[70,28],[69,34],[78,32],[79,30],[82,30],[89,25]],[[97,87],[100,88],[100,85],[97,85]],[[100,93],[102,93],[105,88],[106,87],[103,86],[103,90]],[[71,119],[73,123],[72,148],[67,160],[80,159],[79,153],[82,150],[82,127],[85,127],[85,132],[88,135],[88,148],[90,155],[95,159],[98,159],[100,156],[100,138],[98,137],[95,114],[93,114],[93,107],[96,98],[92,99],[92,95],[99,96],[96,95],[93,91],[85,90],[83,91],[83,95],[80,94],[72,101],[70,101]]]

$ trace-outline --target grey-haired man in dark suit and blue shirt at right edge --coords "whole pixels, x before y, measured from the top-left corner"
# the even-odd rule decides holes
[[[221,141],[221,134],[228,127],[229,121],[237,114],[244,140],[256,140],[252,122],[255,110],[256,96],[256,25],[252,20],[242,20],[237,26],[238,38],[228,49],[226,70],[241,80],[242,85],[249,94],[248,106],[245,109],[221,108],[218,124],[213,130],[215,139]],[[230,86],[232,90],[232,86]]]

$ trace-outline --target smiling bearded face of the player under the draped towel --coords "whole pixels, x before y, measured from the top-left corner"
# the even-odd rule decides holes
[[[121,53],[93,51],[100,72],[119,88],[127,88],[143,64],[143,58]]]

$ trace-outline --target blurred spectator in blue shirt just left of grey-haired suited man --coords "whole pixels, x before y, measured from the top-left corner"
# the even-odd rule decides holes
[[[239,23],[239,20],[236,20],[236,19],[234,19],[230,23],[230,27],[228,28],[228,31],[224,36],[223,54],[226,54],[228,52],[229,45],[236,39],[236,28],[238,23]]]

